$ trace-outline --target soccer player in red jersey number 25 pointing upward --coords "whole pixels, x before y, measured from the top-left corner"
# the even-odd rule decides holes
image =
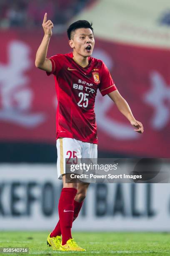
[[[47,59],[47,49],[53,24],[45,13],[42,23],[44,37],[37,50],[35,66],[55,77],[57,92],[57,174],[63,181],[58,204],[59,221],[47,237],[53,250],[85,251],[71,235],[72,222],[77,218],[85,199],[87,183],[66,183],[65,159],[97,158],[97,130],[95,121],[95,96],[97,89],[102,96],[109,95],[120,112],[125,115],[134,131],[143,133],[125,99],[118,92],[112,77],[99,59],[92,58],[95,45],[92,23],[78,20],[67,29],[72,52],[57,54]],[[61,239],[62,236],[62,239]]]

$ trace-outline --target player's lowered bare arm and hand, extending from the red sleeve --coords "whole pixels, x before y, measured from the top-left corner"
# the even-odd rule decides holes
[[[120,112],[125,115],[125,117],[130,121],[131,125],[135,127],[134,131],[138,133],[143,133],[143,125],[141,122],[137,121],[133,114],[132,111],[128,105],[128,102],[120,95],[118,90],[115,90],[113,92],[108,93],[109,97],[111,100],[115,102],[117,105],[117,108],[120,110]]]

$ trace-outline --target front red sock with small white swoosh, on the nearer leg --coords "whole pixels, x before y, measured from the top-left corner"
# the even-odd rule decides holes
[[[74,198],[77,194],[77,189],[63,188],[58,204],[58,213],[60,218],[60,228],[62,234],[62,245],[67,243],[67,240],[72,238],[71,228],[74,214]]]

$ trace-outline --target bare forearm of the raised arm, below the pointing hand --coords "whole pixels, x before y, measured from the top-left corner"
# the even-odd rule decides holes
[[[48,35],[44,35],[42,42],[37,50],[36,53],[36,58],[35,58],[35,66],[36,67],[41,67],[44,62],[45,59],[47,57],[47,50],[48,50],[48,45],[50,42],[50,36]]]

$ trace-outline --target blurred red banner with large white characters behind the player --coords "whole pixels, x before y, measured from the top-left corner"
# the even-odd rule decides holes
[[[42,34],[1,32],[0,141],[55,143],[53,77],[34,65]],[[94,57],[105,61],[135,118],[137,134],[108,96],[97,93],[99,150],[170,157],[170,51],[95,38]],[[66,36],[52,36],[48,57],[69,52]]]

